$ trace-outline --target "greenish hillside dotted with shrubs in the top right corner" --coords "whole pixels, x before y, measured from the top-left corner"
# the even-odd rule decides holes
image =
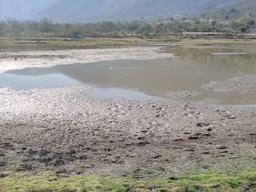
[[[237,20],[244,14],[256,19],[256,0],[232,0],[214,8],[200,11],[191,17],[200,18],[207,14],[215,20]],[[228,17],[225,18],[225,16]]]

